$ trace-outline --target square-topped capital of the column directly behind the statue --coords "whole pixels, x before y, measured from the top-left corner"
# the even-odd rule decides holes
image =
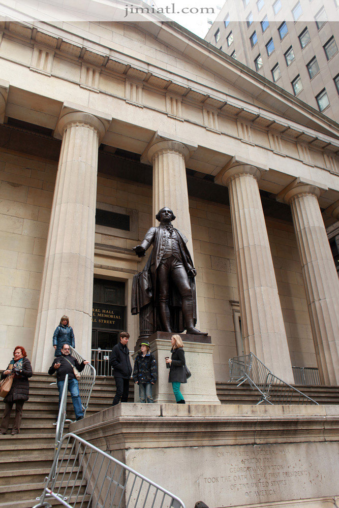
[[[151,164],[153,158],[161,151],[173,151],[183,155],[185,162],[189,160],[198,145],[190,140],[157,131],[141,155],[143,164]]]

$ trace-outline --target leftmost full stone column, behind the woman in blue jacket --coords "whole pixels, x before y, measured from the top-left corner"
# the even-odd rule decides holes
[[[90,360],[98,148],[108,124],[105,115],[66,108],[57,125],[63,142],[35,333],[38,372],[51,365],[52,336],[63,314],[74,329],[76,350]]]

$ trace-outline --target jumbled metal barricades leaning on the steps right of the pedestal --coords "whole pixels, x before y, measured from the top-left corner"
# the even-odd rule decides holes
[[[261,404],[318,404],[314,399],[300,392],[297,388],[275,376],[253,353],[230,358],[230,379],[239,382],[247,381],[252,389],[258,390]]]

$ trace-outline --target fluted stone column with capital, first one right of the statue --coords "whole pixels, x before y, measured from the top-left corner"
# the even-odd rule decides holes
[[[258,180],[252,165],[231,161],[217,176],[230,196],[239,303],[245,352],[293,383],[283,314],[268,243]]]

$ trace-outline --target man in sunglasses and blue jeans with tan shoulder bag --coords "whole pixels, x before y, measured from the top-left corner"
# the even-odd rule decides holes
[[[86,360],[83,360],[81,363],[79,363],[73,356],[71,356],[70,346],[66,343],[61,348],[61,356],[54,358],[54,361],[48,370],[50,376],[56,372],[56,382],[59,390],[59,407],[61,396],[63,395],[65,377],[66,374],[68,374],[68,389],[71,393],[76,420],[83,419],[83,409],[79,393],[79,383],[74,375],[73,366],[78,369],[79,372],[81,372],[87,363],[89,362]]]

